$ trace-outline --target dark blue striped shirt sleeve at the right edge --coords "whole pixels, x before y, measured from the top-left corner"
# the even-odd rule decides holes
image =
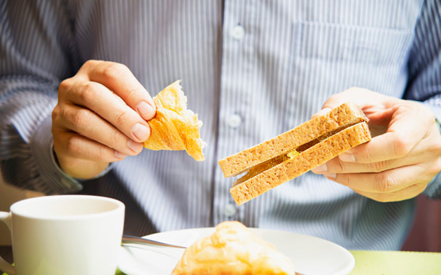
[[[409,84],[405,99],[418,100],[441,120],[441,4],[427,0],[416,24],[409,52]],[[441,198],[441,177],[438,174],[424,190],[432,198]]]

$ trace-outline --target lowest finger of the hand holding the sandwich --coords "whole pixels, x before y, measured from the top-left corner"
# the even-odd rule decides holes
[[[380,173],[323,174],[327,179],[362,192],[396,192],[415,184],[429,182],[434,176],[431,169],[419,165],[402,166]]]

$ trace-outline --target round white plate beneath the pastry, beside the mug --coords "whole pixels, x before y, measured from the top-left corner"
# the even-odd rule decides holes
[[[276,246],[294,263],[296,272],[305,275],[345,275],[355,265],[352,254],[336,243],[314,236],[291,232],[250,228]],[[197,239],[208,236],[214,228],[194,228],[162,232],[145,236],[147,239],[189,246]],[[170,275],[181,259],[179,248],[121,248],[119,269],[127,275]]]

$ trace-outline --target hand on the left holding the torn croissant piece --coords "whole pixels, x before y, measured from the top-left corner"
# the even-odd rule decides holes
[[[110,162],[141,153],[154,117],[152,97],[125,65],[87,61],[59,86],[54,151],[72,177],[90,179]]]

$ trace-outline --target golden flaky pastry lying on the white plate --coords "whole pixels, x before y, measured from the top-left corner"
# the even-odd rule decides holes
[[[294,266],[274,245],[238,221],[224,221],[216,232],[185,250],[172,275],[294,275]]]

